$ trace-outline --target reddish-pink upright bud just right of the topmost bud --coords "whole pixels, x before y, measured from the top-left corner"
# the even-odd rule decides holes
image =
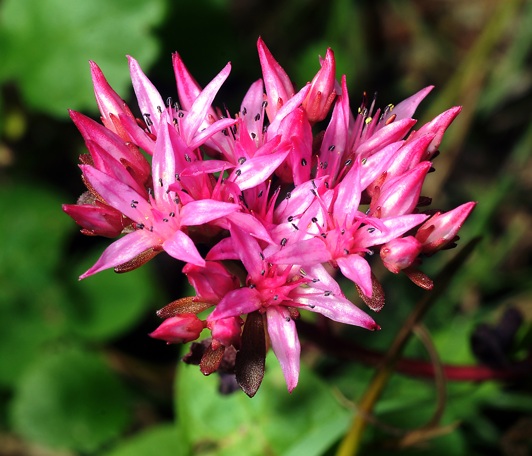
[[[309,122],[312,125],[327,117],[332,101],[336,97],[334,90],[335,76],[334,52],[328,47],[321,69],[312,79],[310,92],[303,101],[303,108],[306,110]]]

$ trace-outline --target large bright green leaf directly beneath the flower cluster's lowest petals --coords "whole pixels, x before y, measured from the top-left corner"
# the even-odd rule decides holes
[[[347,426],[350,413],[329,388],[302,365],[292,394],[279,363],[270,353],[259,392],[250,399],[241,391],[218,393],[218,376],[203,377],[196,366],[181,365],[177,377],[177,413],[182,432],[202,454],[246,456],[321,454]],[[331,429],[334,423],[336,428]],[[322,440],[312,447],[317,436]],[[312,447],[312,451],[302,453]]]

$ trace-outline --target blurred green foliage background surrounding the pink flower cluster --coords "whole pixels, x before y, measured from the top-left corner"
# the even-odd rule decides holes
[[[312,79],[318,54],[330,46],[352,100],[363,90],[379,90],[380,104],[397,103],[435,84],[417,113],[420,121],[463,105],[424,192],[434,197],[433,208],[445,210],[479,201],[460,236],[461,243],[479,234],[483,241],[425,324],[444,363],[477,366],[471,335],[479,324],[496,324],[512,306],[523,324],[506,361],[529,359],[532,1],[4,0],[0,455],[335,453],[372,368],[304,343],[300,385],[292,395],[271,354],[252,400],[241,392],[220,395],[217,375],[203,377],[196,367],[177,363],[179,347],[146,336],[157,325],[154,311],[190,291],[181,265],[159,255],[127,274],[108,270],[78,281],[109,242],[81,236],[61,211],[62,203],[84,192],[76,167],[84,144],[67,110],[99,115],[88,60],[134,112],[126,54],[136,57],[163,98],[177,98],[171,52],[181,54],[201,85],[230,60],[233,70],[216,103],[236,111],[261,77],[259,35],[298,87]],[[434,277],[452,255],[425,260],[423,270]],[[404,276],[380,276],[386,277],[387,304],[376,319],[383,330],[333,330],[385,351],[421,292]],[[358,299],[344,285],[346,295]],[[405,354],[427,360],[417,340]],[[395,374],[361,454],[530,452],[530,386],[528,376],[448,382],[447,430],[398,449],[389,427],[422,426],[436,391],[432,381]],[[519,429],[525,429],[522,438]]]

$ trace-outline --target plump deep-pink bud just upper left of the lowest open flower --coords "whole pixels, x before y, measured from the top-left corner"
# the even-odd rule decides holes
[[[187,263],[183,272],[196,294],[212,303],[218,303],[227,293],[240,287],[238,278],[216,261],[207,261],[205,267]]]

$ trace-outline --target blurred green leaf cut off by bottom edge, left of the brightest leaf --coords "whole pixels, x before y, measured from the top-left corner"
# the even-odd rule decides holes
[[[184,439],[173,424],[149,428],[122,441],[104,456],[185,456]]]

